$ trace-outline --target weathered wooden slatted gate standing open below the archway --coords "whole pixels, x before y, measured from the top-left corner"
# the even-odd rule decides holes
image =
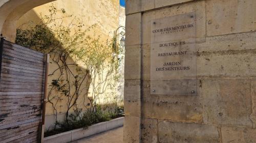
[[[41,142],[45,54],[1,39],[0,142]]]

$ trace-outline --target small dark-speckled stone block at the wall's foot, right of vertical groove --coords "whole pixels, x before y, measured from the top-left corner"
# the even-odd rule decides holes
[[[142,119],[141,142],[157,143],[157,119]]]

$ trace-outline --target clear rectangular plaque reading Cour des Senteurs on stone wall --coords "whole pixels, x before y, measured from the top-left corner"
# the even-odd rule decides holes
[[[151,94],[197,95],[195,13],[151,22]]]

